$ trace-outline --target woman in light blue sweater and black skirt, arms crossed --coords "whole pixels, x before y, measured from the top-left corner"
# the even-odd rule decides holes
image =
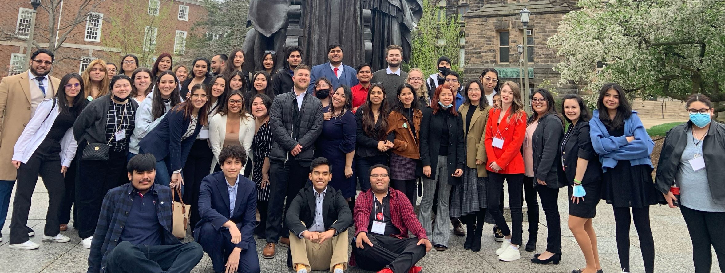
[[[589,121],[589,134],[602,163],[602,199],[614,207],[619,264],[622,272],[629,272],[629,222],[633,218],[645,273],[653,273],[655,243],[650,206],[661,197],[652,180],[650,154],[655,143],[617,83],[602,86],[597,109]]]

